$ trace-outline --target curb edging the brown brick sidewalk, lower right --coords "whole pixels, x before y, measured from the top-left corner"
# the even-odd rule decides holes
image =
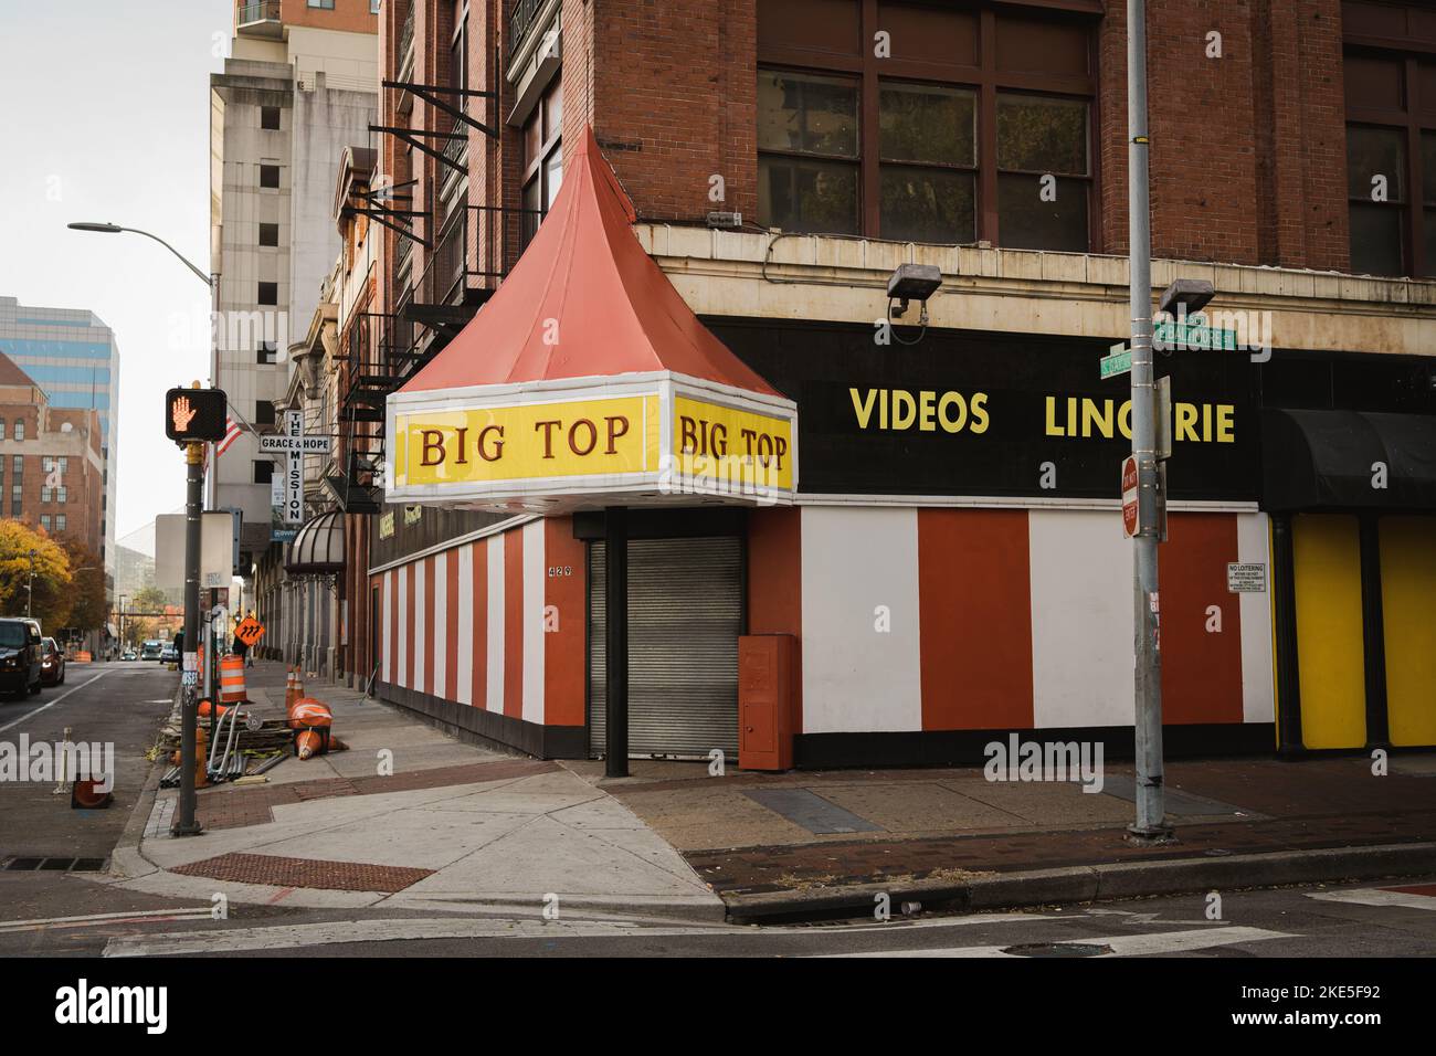
[[[721,895],[735,924],[778,918],[866,917],[886,894],[892,911],[905,901],[925,909],[978,912],[1050,904],[1183,895],[1213,888],[1272,888],[1318,881],[1361,881],[1436,872],[1436,842],[1320,851],[1275,851],[1222,858],[1179,858],[1064,869],[984,874],[966,881],[912,881],[902,885],[853,884],[814,892]]]

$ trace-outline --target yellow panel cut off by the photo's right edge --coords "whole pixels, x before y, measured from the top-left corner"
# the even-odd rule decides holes
[[[1436,517],[1383,517],[1380,532],[1391,744],[1436,744]]]

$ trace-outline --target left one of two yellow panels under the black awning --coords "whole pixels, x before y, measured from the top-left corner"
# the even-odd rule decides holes
[[[1308,749],[1366,744],[1361,539],[1357,519],[1302,513],[1292,523],[1301,740]]]

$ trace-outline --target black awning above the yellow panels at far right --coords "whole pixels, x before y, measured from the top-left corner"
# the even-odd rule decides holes
[[[1380,466],[1384,487],[1376,487]],[[1436,417],[1262,411],[1262,509],[1436,510]]]

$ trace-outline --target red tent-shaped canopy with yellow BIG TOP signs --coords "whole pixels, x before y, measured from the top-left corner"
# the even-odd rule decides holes
[[[388,501],[791,501],[796,405],[698,322],[633,221],[587,129],[513,273],[389,397]]]

